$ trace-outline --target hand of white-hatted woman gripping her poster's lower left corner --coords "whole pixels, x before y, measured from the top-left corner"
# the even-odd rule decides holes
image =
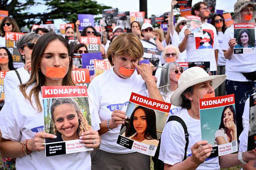
[[[196,142],[191,147],[192,156],[191,159],[196,165],[204,163],[204,160],[208,158],[212,153],[212,145],[207,141]]]

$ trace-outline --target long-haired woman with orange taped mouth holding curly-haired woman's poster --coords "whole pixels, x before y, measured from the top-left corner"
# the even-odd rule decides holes
[[[5,103],[0,112],[0,127],[3,134],[0,142],[1,155],[17,158],[17,169],[90,169],[91,158],[88,152],[55,156],[54,159],[45,157],[44,152],[44,138],[54,139],[56,136],[44,132],[40,91],[42,86],[75,85],[71,76],[72,58],[68,42],[53,32],[44,34],[38,39],[32,51],[31,66],[28,82],[14,90],[12,99]],[[50,73],[46,69],[48,67],[55,72],[63,70],[60,73],[62,78],[55,78],[55,73]],[[92,118],[92,129],[98,130],[99,125],[94,124],[94,120]],[[81,134],[81,142],[86,147],[99,147],[100,137],[95,130],[87,130]],[[71,161],[74,158],[76,161]]]

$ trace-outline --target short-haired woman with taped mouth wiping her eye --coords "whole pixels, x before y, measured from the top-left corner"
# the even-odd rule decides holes
[[[149,64],[138,65],[142,55],[143,46],[137,35],[118,35],[107,51],[108,61],[115,67],[96,76],[89,85],[90,113],[100,117],[99,134],[102,141],[100,149],[92,152],[92,170],[128,167],[150,169],[148,155],[131,151],[116,143],[120,125],[127,119],[124,111],[131,92],[163,101],[153,79],[152,68]]]

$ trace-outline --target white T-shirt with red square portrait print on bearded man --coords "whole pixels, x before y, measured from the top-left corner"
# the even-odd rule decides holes
[[[200,37],[189,37],[187,42],[187,62],[210,62],[210,71],[216,71],[217,65],[215,60],[214,50],[219,50],[219,41],[217,39],[216,28],[207,22],[202,24],[204,33],[203,38],[210,39],[209,43],[203,43],[200,45],[202,40]],[[187,26],[184,26],[180,31],[180,43],[184,39],[184,30]],[[211,35],[211,36],[210,36]]]

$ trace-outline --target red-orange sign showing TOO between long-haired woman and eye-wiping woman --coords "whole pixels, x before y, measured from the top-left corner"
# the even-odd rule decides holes
[[[72,70],[72,78],[74,83],[90,83],[89,69]]]

